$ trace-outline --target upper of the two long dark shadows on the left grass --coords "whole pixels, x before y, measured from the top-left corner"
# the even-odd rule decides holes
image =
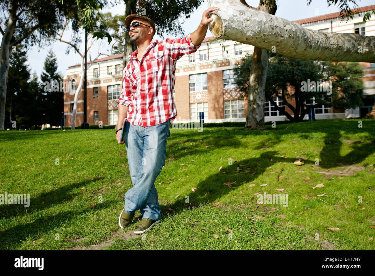
[[[82,193],[82,190],[76,190],[87,187],[91,182],[104,179],[104,177],[95,177],[83,181],[65,185],[49,192],[30,198],[30,206],[24,207],[25,204],[4,204],[0,205],[0,219],[22,216],[27,213],[34,213],[43,209],[51,208],[52,205],[60,205],[66,201],[71,201]],[[44,203],[42,203],[44,202]],[[27,209],[27,210],[26,210]]]

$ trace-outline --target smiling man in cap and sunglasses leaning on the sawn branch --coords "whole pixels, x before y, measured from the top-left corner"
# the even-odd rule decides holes
[[[130,39],[137,50],[129,55],[130,61],[123,71],[123,84],[118,103],[116,139],[120,141],[124,118],[125,143],[130,178],[133,187],[125,194],[124,209],[118,218],[121,228],[132,223],[134,213],[140,210],[142,220],[134,229],[141,234],[160,221],[160,205],[154,182],[165,165],[166,142],[170,136],[169,124],[177,116],[173,100],[176,61],[184,54],[195,52],[203,41],[208,14],[203,12],[201,23],[184,38],[153,39],[154,22],[141,15],[125,18]]]

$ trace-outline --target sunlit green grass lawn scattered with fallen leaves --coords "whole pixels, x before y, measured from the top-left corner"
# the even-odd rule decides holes
[[[132,182],[114,130],[0,131],[0,194],[30,194],[28,208],[0,205],[0,249],[374,250],[375,120],[362,123],[171,128],[162,219],[144,235],[139,211],[118,226]]]

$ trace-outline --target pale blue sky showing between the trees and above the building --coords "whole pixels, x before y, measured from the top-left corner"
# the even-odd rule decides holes
[[[258,6],[259,0],[246,0],[251,6]],[[282,17],[288,20],[299,20],[309,17],[315,17],[317,15],[330,14],[332,12],[338,12],[339,8],[336,6],[327,6],[327,0],[312,0],[312,3],[308,6],[307,0],[277,0],[278,9],[276,11],[276,16]],[[374,5],[374,0],[361,0],[357,1],[360,7]],[[354,6],[352,6],[353,8]],[[184,20],[182,24],[184,33],[194,32],[201,21],[203,12],[207,9],[207,0],[195,11],[192,12],[190,18]],[[121,14],[125,12],[125,5],[117,5],[113,8],[106,8],[105,12],[111,12],[114,14]],[[374,15],[373,15],[374,16]],[[183,18],[184,19],[184,18]],[[181,19],[180,23],[183,22]],[[163,34],[164,38],[173,38],[168,36],[168,34]],[[207,36],[212,36],[210,30],[207,30]],[[68,39],[69,36],[66,37]],[[161,39],[159,36],[155,35],[154,38]],[[74,50],[71,50],[69,55],[65,54],[66,44],[60,41],[53,43],[50,47],[40,49],[38,47],[32,47],[28,50],[28,64],[31,69],[31,74],[36,71],[37,75],[40,77],[40,74],[43,71],[43,63],[47,55],[49,48],[55,52],[58,62],[58,70],[64,76],[66,74],[66,69],[68,66],[80,63],[80,56],[74,53]],[[84,45],[81,47],[84,51]],[[97,53],[97,50],[92,52],[92,57]],[[105,56],[101,56],[105,57]]]

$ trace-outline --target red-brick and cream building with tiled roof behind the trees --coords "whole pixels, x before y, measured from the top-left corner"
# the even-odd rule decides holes
[[[339,13],[326,14],[313,18],[294,21],[303,27],[323,32],[361,33],[375,36],[375,18],[363,23],[363,15],[375,9],[375,5],[359,8],[359,16],[345,23]],[[356,10],[354,10],[356,11]],[[254,47],[235,41],[213,41],[210,36],[203,40],[197,51],[182,56],[176,64],[175,89],[173,92],[177,107],[174,122],[197,121],[199,112],[204,112],[205,122],[246,121],[247,97],[240,99],[240,92],[234,86],[233,68],[236,62],[252,52]],[[224,47],[222,45],[223,44]],[[118,118],[117,100],[122,86],[123,54],[105,57],[87,70],[87,122],[90,125],[116,125]],[[351,118],[368,113],[375,102],[375,64],[361,63],[365,71],[364,106],[350,110],[335,110],[332,106],[320,106],[315,109],[316,119]],[[66,126],[70,126],[75,90],[80,81],[80,65],[69,66],[65,81],[72,81],[69,90],[64,92],[64,114]],[[274,99],[279,106],[284,106],[280,98]],[[314,103],[314,99],[311,99]],[[291,100],[293,104],[293,100]],[[293,114],[288,107],[288,113]],[[279,114],[272,104],[264,104],[265,121],[287,120]],[[307,118],[307,115],[305,119]],[[83,122],[83,89],[78,97],[75,125]]]

